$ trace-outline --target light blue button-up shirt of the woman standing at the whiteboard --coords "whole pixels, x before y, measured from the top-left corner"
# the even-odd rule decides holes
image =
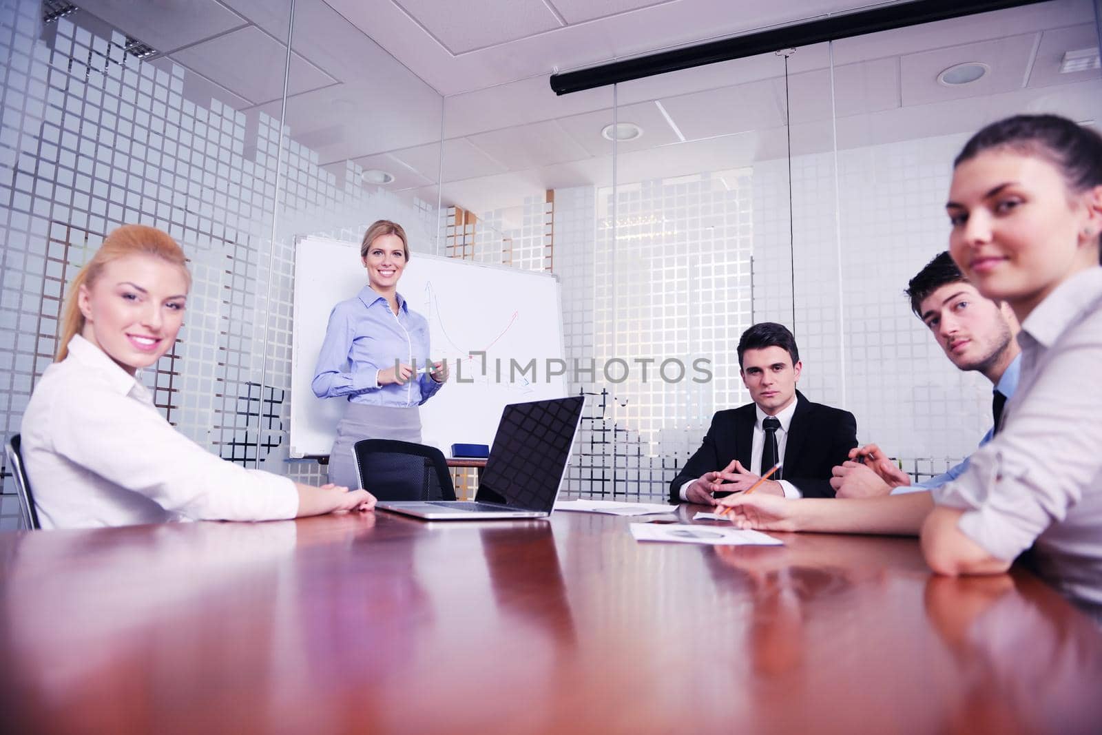
[[[311,383],[315,396],[406,408],[424,403],[440,390],[442,383],[420,372],[432,365],[429,322],[397,295],[398,314],[370,285],[333,307]],[[411,366],[415,361],[418,375],[406,385],[380,387],[379,370],[395,367],[396,360]]]

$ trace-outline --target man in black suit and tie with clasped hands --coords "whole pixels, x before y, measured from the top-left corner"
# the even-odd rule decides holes
[[[714,506],[715,493],[745,490],[776,462],[781,467],[755,493],[834,497],[831,469],[857,446],[856,419],[796,390],[803,366],[796,337],[780,324],[746,329],[738,366],[754,402],[712,417],[704,443],[670,483],[670,500]]]

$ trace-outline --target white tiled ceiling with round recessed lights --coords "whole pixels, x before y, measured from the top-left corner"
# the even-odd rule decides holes
[[[159,64],[186,67],[185,93],[197,102],[215,96],[252,116],[279,117],[290,0],[77,4],[154,46],[164,54]],[[287,122],[331,171],[343,172],[347,160],[385,169],[396,176],[392,188],[430,201],[442,172],[445,202],[497,208],[543,188],[611,181],[612,143],[599,133],[612,122],[613,89],[558,97],[548,84],[552,71],[860,7],[296,0]],[[72,18],[79,23],[79,15]],[[1102,74],[1059,74],[1066,51],[1096,44],[1093,23],[1092,0],[1054,0],[802,47],[788,60],[787,104],[785,60],[775,54],[625,83],[616,89],[617,117],[644,136],[619,143],[618,180],[782,155],[789,107],[797,153],[830,149],[834,112],[843,147],[963,132],[996,110],[1102,119]],[[936,80],[966,61],[991,72],[966,87]]]

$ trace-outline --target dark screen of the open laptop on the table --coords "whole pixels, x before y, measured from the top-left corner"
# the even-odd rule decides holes
[[[475,500],[550,511],[584,404],[574,396],[506,406]]]

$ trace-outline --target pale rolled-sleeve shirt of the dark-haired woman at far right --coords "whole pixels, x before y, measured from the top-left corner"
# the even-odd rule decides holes
[[[1102,268],[1057,287],[1022,323],[1022,376],[1003,429],[932,490],[991,555],[1034,547],[1041,576],[1102,605]]]

